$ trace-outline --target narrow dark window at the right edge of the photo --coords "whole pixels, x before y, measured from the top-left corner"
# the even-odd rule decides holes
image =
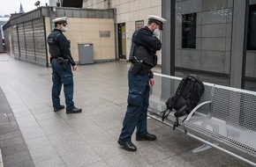
[[[247,50],[256,50],[256,4],[249,6]]]

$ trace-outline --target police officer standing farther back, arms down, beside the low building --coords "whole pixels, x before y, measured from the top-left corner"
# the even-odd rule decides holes
[[[70,42],[64,36],[67,28],[67,18],[56,18],[52,20],[55,24],[54,30],[49,33],[48,44],[50,63],[52,67],[52,103],[54,112],[64,109],[60,104],[60,91],[64,84],[64,97],[66,113],[81,113],[82,109],[76,108],[73,102],[73,74],[77,69],[70,51]]]

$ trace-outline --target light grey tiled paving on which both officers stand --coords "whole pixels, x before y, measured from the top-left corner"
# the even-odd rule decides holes
[[[12,150],[10,154],[15,157],[4,156],[6,166],[247,166],[215,149],[192,154],[191,150],[199,147],[200,142],[155,120],[148,120],[148,129],[157,135],[157,141],[136,142],[133,138],[138,151],[119,148],[117,138],[128,90],[127,62],[79,66],[74,72],[74,101],[83,113],[70,115],[64,110],[52,110],[51,69],[13,60],[7,54],[0,54],[0,67],[0,87],[4,92],[0,91],[0,99],[5,95],[10,104],[4,105],[7,101],[3,98],[0,110],[7,108],[12,122],[17,122],[13,124],[17,134],[0,134],[2,154]],[[63,92],[61,100],[64,104]],[[4,129],[1,120],[0,132]],[[6,149],[3,143],[10,141],[13,142],[8,146],[12,149]],[[22,149],[15,149],[19,144]],[[27,150],[31,156],[26,155]],[[26,158],[21,158],[24,155]]]

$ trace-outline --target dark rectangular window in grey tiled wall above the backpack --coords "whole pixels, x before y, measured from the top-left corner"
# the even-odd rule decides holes
[[[182,47],[196,48],[197,14],[182,15]]]

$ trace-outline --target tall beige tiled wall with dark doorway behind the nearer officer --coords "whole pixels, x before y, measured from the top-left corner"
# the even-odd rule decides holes
[[[116,9],[117,10],[117,47],[118,57],[128,59],[135,29],[147,25],[147,16],[162,15],[162,0],[92,0],[85,1],[83,8]],[[160,37],[161,38],[161,37]],[[159,62],[161,60],[161,52]]]

